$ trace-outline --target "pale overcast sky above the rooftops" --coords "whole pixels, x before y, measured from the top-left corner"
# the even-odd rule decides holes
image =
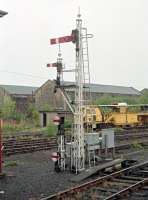
[[[78,6],[94,35],[91,82],[147,88],[147,0],[0,0],[0,10],[9,13],[0,18],[0,84],[40,86],[54,79],[46,64],[56,60],[58,46],[50,38],[71,34]],[[66,67],[74,67],[74,44],[61,49]]]

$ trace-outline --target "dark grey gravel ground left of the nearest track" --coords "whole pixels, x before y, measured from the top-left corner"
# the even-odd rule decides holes
[[[0,200],[38,200],[74,186],[69,181],[74,174],[54,172],[51,153],[52,151],[40,151],[6,157],[5,163],[11,165],[16,162],[17,165],[4,168],[7,177],[0,179]],[[141,150],[139,154],[131,155],[131,158],[145,161],[148,160],[147,155],[148,150]]]

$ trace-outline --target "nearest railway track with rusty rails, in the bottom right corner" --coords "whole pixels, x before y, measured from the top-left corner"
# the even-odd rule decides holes
[[[147,200],[148,161],[41,200]]]

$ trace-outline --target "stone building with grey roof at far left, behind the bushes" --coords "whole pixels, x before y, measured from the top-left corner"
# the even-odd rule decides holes
[[[34,102],[34,92],[37,87],[0,85],[0,105],[2,106],[7,99],[16,102],[16,110],[25,114],[30,102]]]

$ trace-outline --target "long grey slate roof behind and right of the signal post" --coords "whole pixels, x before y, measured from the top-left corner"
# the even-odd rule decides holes
[[[72,85],[72,82],[64,82],[64,85]],[[141,95],[140,91],[133,87],[91,84],[91,91],[95,93],[123,94],[123,95]],[[68,89],[70,90],[70,89]]]

